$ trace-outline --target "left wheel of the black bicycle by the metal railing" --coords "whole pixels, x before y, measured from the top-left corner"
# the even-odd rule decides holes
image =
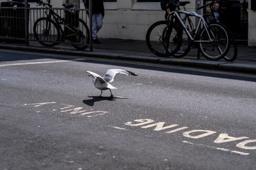
[[[33,26],[34,36],[44,46],[57,45],[60,40],[60,29],[56,23],[47,18],[39,18]]]

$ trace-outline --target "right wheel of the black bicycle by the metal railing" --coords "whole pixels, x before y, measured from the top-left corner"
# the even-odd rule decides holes
[[[76,36],[72,36],[72,44],[77,50],[84,50],[90,43],[90,31],[86,23],[79,18],[79,25],[76,28]],[[78,44],[79,43],[79,44]]]

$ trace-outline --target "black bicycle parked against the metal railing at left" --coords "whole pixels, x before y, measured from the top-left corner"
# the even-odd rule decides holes
[[[36,2],[37,6],[46,6],[46,17],[38,18],[33,26],[33,32],[38,42],[44,46],[54,46],[60,43],[60,40],[68,39],[77,50],[84,50],[90,43],[90,31],[86,23],[79,18],[77,25],[68,25],[65,18],[61,18],[58,13],[52,10],[51,0]],[[65,6],[65,5],[63,5]],[[66,9],[73,6],[65,6]],[[68,30],[63,31],[62,27]]]

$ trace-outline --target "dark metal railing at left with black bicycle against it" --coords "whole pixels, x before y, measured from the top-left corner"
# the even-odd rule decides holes
[[[27,4],[27,5],[24,5]],[[2,2],[0,6],[0,42],[38,41],[44,46],[60,43],[78,50],[92,51],[91,10],[30,8],[25,3]]]

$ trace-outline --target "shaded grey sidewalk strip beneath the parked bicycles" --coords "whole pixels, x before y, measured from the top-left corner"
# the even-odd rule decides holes
[[[237,59],[227,62],[224,59],[218,61],[207,60],[200,56],[197,59],[197,50],[192,49],[187,56],[180,59],[173,57],[157,57],[148,50],[145,41],[100,39],[99,45],[93,45],[93,52],[87,48],[84,51],[76,50],[72,45],[61,44],[52,48],[30,41],[29,46],[24,44],[0,43],[0,49],[25,50],[30,52],[59,53],[65,55],[78,55],[81,57],[104,57],[111,59],[137,60],[175,66],[202,67],[240,73],[256,74],[256,47],[238,45]]]

